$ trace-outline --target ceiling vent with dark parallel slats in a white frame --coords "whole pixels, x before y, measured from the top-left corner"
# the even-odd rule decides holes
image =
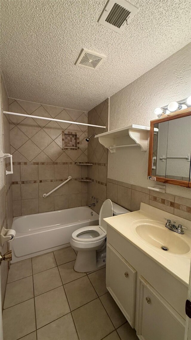
[[[120,33],[137,11],[135,6],[125,0],[109,0],[98,22]]]

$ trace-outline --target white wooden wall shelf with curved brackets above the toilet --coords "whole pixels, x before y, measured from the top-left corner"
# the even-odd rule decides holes
[[[158,129],[156,129],[157,131]],[[116,152],[116,148],[140,146],[141,151],[147,150],[150,127],[142,125],[130,125],[124,128],[108,131],[96,135],[99,142],[111,153]]]

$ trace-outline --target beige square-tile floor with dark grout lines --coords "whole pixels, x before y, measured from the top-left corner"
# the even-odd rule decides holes
[[[108,293],[105,268],[73,270],[71,247],[11,265],[4,340],[137,340]]]

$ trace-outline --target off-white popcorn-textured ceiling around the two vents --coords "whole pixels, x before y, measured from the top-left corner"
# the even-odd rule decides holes
[[[12,98],[88,111],[189,43],[190,0],[131,0],[122,32],[97,22],[105,0],[1,0],[1,69]],[[107,56],[75,66],[82,48]]]

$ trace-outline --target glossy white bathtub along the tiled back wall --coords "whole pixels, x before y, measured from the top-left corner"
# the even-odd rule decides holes
[[[87,206],[14,217],[11,263],[65,248],[72,233],[88,225],[99,225],[99,215]]]

